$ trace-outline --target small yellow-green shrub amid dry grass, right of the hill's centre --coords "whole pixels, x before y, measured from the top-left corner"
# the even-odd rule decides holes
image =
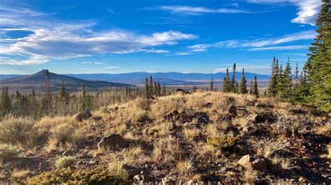
[[[209,137],[207,138],[207,143],[219,150],[230,150],[230,148],[237,144],[237,139],[233,138],[233,136],[223,135],[219,137]]]

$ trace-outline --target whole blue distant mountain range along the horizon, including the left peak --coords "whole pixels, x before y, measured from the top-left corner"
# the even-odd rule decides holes
[[[68,90],[75,91],[80,90],[82,86],[86,86],[89,90],[101,90],[114,87],[143,86],[145,78],[153,77],[154,81],[160,81],[161,85],[167,86],[186,86],[186,85],[209,85],[210,80],[214,79],[214,84],[220,86],[223,83],[225,73],[218,72],[212,74],[204,73],[179,73],[179,72],[130,72],[122,74],[55,74],[50,73],[51,88],[52,90],[59,90],[61,82],[64,81]],[[240,81],[242,76],[241,72],[236,72],[235,77],[237,81]],[[265,86],[270,79],[270,75],[254,74],[250,72],[245,73],[247,79],[247,85],[249,81],[253,80],[253,77],[257,76],[260,81],[260,87]],[[232,73],[230,73],[232,77]],[[31,75],[20,74],[0,74],[0,87],[8,86],[10,89],[28,91],[31,88],[36,90],[43,90],[45,82],[45,70],[37,72]]]

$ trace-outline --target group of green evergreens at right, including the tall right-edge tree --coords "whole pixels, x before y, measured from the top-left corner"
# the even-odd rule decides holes
[[[309,58],[300,72],[296,65],[293,74],[288,60],[283,69],[274,58],[267,94],[286,102],[315,106],[331,112],[331,15],[330,0],[323,0],[316,19],[315,42],[309,47]],[[294,83],[294,84],[293,84]]]

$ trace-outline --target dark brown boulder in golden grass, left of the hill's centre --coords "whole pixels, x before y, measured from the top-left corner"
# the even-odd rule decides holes
[[[101,138],[98,143],[98,150],[120,150],[128,147],[130,143],[119,134],[109,134]]]

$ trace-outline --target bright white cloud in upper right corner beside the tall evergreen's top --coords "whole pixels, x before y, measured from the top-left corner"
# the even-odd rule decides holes
[[[315,20],[321,10],[321,0],[247,0],[250,3],[293,3],[299,10],[293,23],[315,25]]]

